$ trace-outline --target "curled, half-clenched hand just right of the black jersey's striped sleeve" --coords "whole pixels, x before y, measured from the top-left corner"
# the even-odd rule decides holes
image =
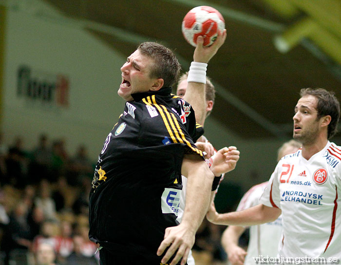
[[[234,170],[239,160],[240,152],[235,146],[220,149],[213,159],[211,171],[215,176]]]

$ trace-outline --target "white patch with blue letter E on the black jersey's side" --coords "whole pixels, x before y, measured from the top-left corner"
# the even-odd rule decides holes
[[[162,213],[174,213],[178,216],[181,189],[165,188],[161,196]]]

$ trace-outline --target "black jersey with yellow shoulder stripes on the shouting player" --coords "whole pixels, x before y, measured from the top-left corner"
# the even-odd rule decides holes
[[[90,192],[90,239],[111,251],[159,259],[166,227],[176,226],[184,154],[204,158],[203,134],[188,102],[158,92],[133,94],[98,156]]]

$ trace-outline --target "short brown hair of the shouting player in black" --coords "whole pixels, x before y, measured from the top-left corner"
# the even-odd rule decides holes
[[[163,87],[171,87],[177,82],[181,65],[170,49],[156,42],[143,42],[137,49],[154,60],[150,76],[162,78]]]

